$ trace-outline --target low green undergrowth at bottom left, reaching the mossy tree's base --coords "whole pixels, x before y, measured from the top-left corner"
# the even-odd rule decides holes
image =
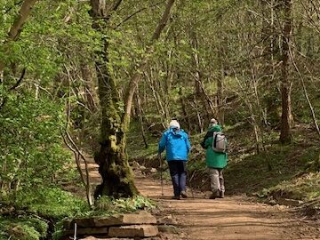
[[[136,212],[156,207],[156,203],[143,196],[114,199],[102,196],[90,209],[84,199],[57,187],[22,192],[0,203],[0,240],[39,240],[47,237],[52,228],[52,239],[60,239],[65,219],[109,216],[116,213]],[[50,226],[51,225],[51,226]]]

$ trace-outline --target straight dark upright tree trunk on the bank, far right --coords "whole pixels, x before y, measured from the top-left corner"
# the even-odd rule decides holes
[[[281,133],[280,141],[290,143],[292,141],[292,107],[291,91],[292,81],[289,79],[290,42],[292,35],[292,0],[284,0],[284,31],[283,31],[283,56],[282,56],[282,79],[281,79]]]

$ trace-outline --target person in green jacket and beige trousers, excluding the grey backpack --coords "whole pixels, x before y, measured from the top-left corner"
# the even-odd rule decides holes
[[[201,146],[206,149],[205,160],[209,168],[212,195],[210,199],[216,197],[223,198],[225,193],[225,186],[223,180],[223,169],[227,166],[228,154],[227,151],[218,152],[213,150],[213,135],[221,132],[221,127],[218,121],[214,118],[211,119],[208,132],[204,136]],[[227,140],[226,140],[227,144]]]

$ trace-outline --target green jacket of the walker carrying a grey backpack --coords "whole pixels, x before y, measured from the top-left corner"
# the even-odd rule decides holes
[[[201,146],[206,149],[205,161],[208,167],[212,168],[225,168],[228,162],[227,153],[217,153],[212,149],[213,141],[213,132],[220,132],[220,125],[216,124],[212,127],[209,127],[208,132],[204,136],[204,140],[201,143]]]

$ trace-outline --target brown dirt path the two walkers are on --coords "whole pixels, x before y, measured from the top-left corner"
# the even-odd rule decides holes
[[[94,164],[90,164],[90,175],[93,184],[100,181]],[[157,217],[172,216],[177,221],[180,234],[164,239],[320,239],[316,222],[300,220],[285,206],[256,204],[242,196],[212,200],[203,193],[192,196],[190,192],[187,199],[172,200],[170,184],[164,184],[162,196],[160,180],[141,174],[136,175],[136,186],[140,194],[159,204]]]

